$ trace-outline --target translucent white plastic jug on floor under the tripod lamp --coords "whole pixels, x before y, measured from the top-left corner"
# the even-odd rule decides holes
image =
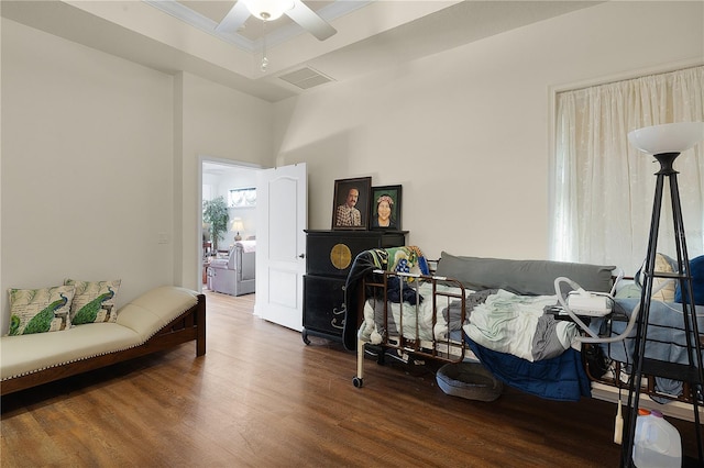
[[[638,410],[634,464],[638,468],[680,468],[682,466],[680,433],[662,417],[659,411]]]

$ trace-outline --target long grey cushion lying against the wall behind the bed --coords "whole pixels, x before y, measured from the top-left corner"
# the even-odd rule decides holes
[[[516,294],[554,294],[554,279],[568,277],[587,291],[608,292],[615,266],[551,260],[464,257],[442,252],[436,275],[480,291],[501,288]]]

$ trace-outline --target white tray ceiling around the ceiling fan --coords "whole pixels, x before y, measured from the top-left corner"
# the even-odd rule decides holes
[[[260,67],[255,19],[234,34],[215,26],[234,0],[2,0],[2,16],[162,70],[179,70],[267,101],[306,92],[280,77],[311,68],[333,81],[565,14],[601,1],[308,1],[338,33],[318,41],[286,16],[267,24],[270,66]],[[327,80],[321,80],[327,81]],[[327,86],[327,85],[323,85]]]

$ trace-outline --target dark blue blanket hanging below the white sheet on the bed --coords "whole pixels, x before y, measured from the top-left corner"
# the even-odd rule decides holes
[[[560,356],[530,363],[510,354],[477,345],[466,334],[472,352],[496,378],[505,383],[548,400],[579,401],[591,397],[590,379],[581,354],[569,348]]]

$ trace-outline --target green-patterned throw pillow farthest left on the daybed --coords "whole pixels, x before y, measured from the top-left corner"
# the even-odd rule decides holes
[[[75,290],[73,285],[43,289],[9,289],[8,335],[57,332],[70,327],[69,310]]]

